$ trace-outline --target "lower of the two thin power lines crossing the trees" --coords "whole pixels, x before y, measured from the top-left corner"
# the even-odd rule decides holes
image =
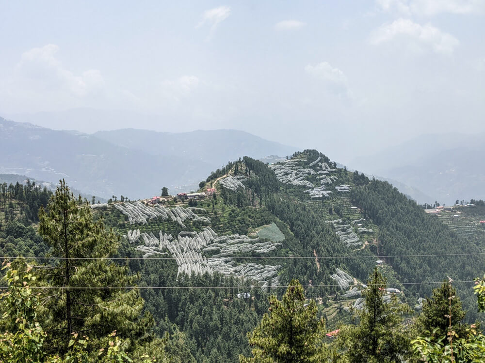
[[[456,283],[472,283],[475,280],[461,280],[461,281],[453,281],[453,284]],[[432,284],[442,284],[443,281],[420,281],[420,282],[403,282],[403,283],[387,283],[386,286],[400,286],[400,285],[432,285]],[[364,284],[351,284],[348,287],[362,287]],[[366,284],[365,286],[382,286],[383,284]],[[295,285],[278,285],[278,286],[271,286],[274,288],[283,287],[288,288]],[[301,285],[302,287],[340,287],[339,284],[323,284],[323,285]],[[45,289],[45,290],[148,290],[148,289],[190,289],[190,288],[267,288],[269,286],[128,286],[128,287],[112,287],[112,286],[85,286],[85,287],[59,287],[59,286],[33,286],[30,287],[32,289]],[[8,288],[8,286],[0,286],[0,288]],[[27,288],[27,287],[26,287]]]

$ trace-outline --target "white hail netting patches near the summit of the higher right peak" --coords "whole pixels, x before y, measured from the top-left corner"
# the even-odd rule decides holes
[[[329,197],[330,190],[326,190],[325,185],[332,184],[337,181],[335,175],[328,176],[330,172],[337,171],[337,169],[332,169],[327,163],[320,163],[322,157],[319,156],[317,160],[309,164],[309,168],[302,168],[298,165],[300,161],[306,161],[302,159],[290,159],[279,164],[270,165],[269,168],[275,173],[276,179],[283,184],[291,184],[296,186],[305,186],[309,189],[305,190],[305,193],[309,194],[310,198],[322,198]],[[322,168],[316,172],[311,167],[317,165],[317,168]],[[315,187],[312,182],[307,180],[309,175],[317,175],[317,179],[320,180],[321,186]]]

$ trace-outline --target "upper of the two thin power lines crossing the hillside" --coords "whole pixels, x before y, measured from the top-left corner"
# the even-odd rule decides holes
[[[274,257],[25,257],[25,256],[0,256],[0,259],[54,259],[54,260],[97,260],[97,259],[109,259],[109,260],[171,260],[171,259],[190,259],[190,260],[211,260],[221,258],[231,259],[331,259],[331,258],[395,258],[395,257],[453,257],[453,256],[483,256],[485,252],[478,253],[444,253],[444,254],[421,254],[421,255],[388,255],[388,256],[274,256]]]

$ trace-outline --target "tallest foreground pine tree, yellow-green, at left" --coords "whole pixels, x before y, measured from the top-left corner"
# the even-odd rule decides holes
[[[81,200],[81,197],[79,198]],[[63,351],[76,332],[97,338],[116,330],[131,341],[150,330],[152,319],[142,317],[143,299],[128,268],[108,259],[118,250],[119,238],[102,219],[93,221],[88,203],[78,205],[65,181],[39,211],[39,233],[58,258],[53,266],[39,267],[43,293],[42,322],[53,349]],[[108,289],[109,288],[109,289]]]

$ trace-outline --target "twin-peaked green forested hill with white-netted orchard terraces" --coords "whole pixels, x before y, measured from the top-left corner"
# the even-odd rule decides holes
[[[16,187],[6,187],[0,205],[0,216],[9,215],[1,227],[3,256],[52,256],[52,243],[35,233],[37,219],[21,219],[26,212],[19,212]],[[477,242],[426,214],[387,182],[338,168],[322,153],[306,150],[272,165],[244,157],[214,171],[199,187],[205,195],[189,199],[91,206],[96,223],[120,236],[109,257],[121,258],[114,263],[126,266],[139,287],[143,311],[153,317],[147,329],[159,337],[170,333],[168,342],[179,342],[196,362],[238,362],[240,354],[249,355],[246,333],[268,311],[269,295],[281,299],[292,279],[302,284],[307,299],[315,299],[316,317],[324,319],[327,331],[364,311],[365,284],[376,268],[387,279],[387,285],[380,283],[386,299],[414,308],[403,310],[408,322],[422,309],[420,298],[447,276],[468,310],[467,320],[483,318],[471,291],[485,266]],[[46,206],[49,192],[34,190]],[[18,205],[13,214],[10,202]],[[26,239],[37,239],[38,250],[25,248]]]

